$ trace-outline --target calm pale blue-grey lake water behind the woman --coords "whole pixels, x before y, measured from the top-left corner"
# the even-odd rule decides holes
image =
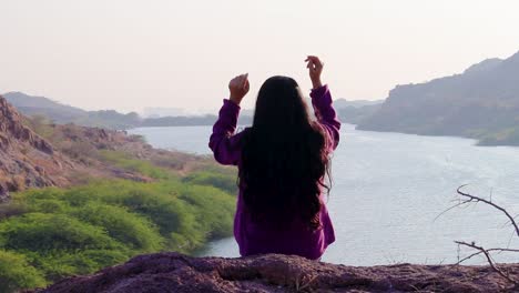
[[[132,130],[156,148],[207,154],[211,127]],[[328,209],[336,242],[324,261],[349,265],[452,263],[454,240],[519,247],[510,226],[482,204],[435,218],[457,199],[456,189],[519,213],[519,148],[482,148],[460,138],[356,131],[343,125],[333,158],[334,185]],[[461,250],[460,255],[469,251]],[[204,255],[238,256],[234,239],[210,243]],[[499,261],[519,262],[501,254]],[[471,263],[484,263],[481,259]]]

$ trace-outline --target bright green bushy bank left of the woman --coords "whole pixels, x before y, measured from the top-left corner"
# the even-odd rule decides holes
[[[232,175],[175,178],[152,165],[129,164],[160,180],[29,190],[0,205],[0,292],[92,273],[142,253],[191,253],[232,235]]]

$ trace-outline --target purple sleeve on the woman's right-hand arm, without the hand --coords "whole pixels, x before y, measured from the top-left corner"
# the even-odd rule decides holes
[[[340,121],[332,104],[332,94],[329,93],[328,85],[313,89],[311,97],[315,117],[324,128],[325,133],[327,133],[327,149],[333,151],[339,142]]]

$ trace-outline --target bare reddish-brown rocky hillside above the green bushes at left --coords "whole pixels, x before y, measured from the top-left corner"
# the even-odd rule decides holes
[[[72,124],[45,124],[21,115],[0,97],[0,201],[28,188],[70,186],[91,179],[150,181],[106,154],[153,161],[182,172],[204,161],[179,152],[155,150],[123,131]]]

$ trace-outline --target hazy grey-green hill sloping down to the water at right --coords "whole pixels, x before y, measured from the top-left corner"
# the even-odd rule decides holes
[[[397,85],[357,128],[519,145],[519,52],[485,60],[461,74]]]

